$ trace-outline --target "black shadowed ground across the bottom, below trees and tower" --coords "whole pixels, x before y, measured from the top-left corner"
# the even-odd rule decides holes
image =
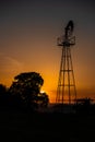
[[[0,110],[0,142],[95,142],[95,115]]]

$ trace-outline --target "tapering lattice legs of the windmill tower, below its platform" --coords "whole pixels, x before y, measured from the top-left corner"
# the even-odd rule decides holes
[[[76,100],[76,90],[71,58],[71,48],[63,46],[56,103],[72,104],[73,100]]]

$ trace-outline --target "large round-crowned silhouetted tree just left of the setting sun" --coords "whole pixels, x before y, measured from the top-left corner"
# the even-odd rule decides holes
[[[9,88],[12,96],[15,96],[26,105],[27,108],[36,108],[38,94],[44,83],[43,78],[36,72],[25,72],[14,76],[14,82]]]

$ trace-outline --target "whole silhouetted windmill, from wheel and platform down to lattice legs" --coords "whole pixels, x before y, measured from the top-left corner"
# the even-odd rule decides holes
[[[75,80],[71,58],[71,47],[75,45],[75,36],[72,35],[73,27],[73,21],[69,21],[64,28],[64,35],[57,40],[57,45],[62,49],[56,97],[56,103],[58,104],[72,104],[73,100],[76,100]]]

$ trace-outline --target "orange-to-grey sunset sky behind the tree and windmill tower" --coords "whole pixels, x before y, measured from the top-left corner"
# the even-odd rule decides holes
[[[0,83],[38,72],[56,99],[61,59],[57,38],[73,20],[72,60],[78,97],[95,98],[95,0],[0,0]]]

